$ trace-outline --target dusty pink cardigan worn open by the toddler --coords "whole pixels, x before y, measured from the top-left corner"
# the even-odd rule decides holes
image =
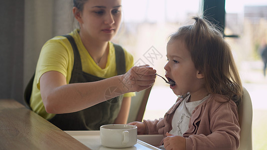
[[[147,134],[166,136],[166,132],[172,129],[172,117],[182,100],[178,98],[165,113],[164,118],[144,120]],[[189,128],[183,134],[186,138],[186,149],[225,150],[239,147],[240,127],[237,106],[232,100],[222,101],[225,101],[222,95],[210,95],[207,100],[195,107],[190,117]]]

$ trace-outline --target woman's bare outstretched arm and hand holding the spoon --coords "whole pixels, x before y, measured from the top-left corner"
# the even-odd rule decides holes
[[[66,77],[58,71],[48,71],[40,78],[40,90],[48,113],[75,112],[106,99],[106,90],[116,86],[121,93],[140,91],[155,82],[156,70],[148,65],[133,66],[123,75],[95,82],[67,84]],[[111,93],[108,99],[116,97]]]

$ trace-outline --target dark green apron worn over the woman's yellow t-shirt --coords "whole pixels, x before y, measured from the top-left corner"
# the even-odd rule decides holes
[[[74,65],[70,83],[93,82],[104,79],[82,71],[80,53],[73,37],[70,35],[64,36],[69,39],[74,51]],[[116,69],[118,75],[123,74],[126,72],[124,51],[119,45],[114,44],[114,47]],[[62,130],[99,130],[101,125],[114,122],[120,111],[122,97],[120,95],[77,112],[56,114],[49,121]]]

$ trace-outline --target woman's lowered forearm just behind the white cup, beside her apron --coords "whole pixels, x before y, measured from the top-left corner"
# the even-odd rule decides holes
[[[117,124],[126,124],[128,120],[128,115],[131,107],[131,98],[132,97],[123,97],[123,101],[121,104],[120,112],[114,121]]]

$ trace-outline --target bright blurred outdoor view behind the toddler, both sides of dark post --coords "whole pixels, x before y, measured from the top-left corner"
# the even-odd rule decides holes
[[[129,50],[137,64],[148,63],[164,75],[167,37],[180,25],[190,23],[193,15],[201,15],[207,7],[205,16],[223,18],[212,13],[213,9],[220,9],[223,0],[214,1],[217,3],[211,1],[205,5],[202,0],[123,0],[124,20],[115,42]],[[212,4],[214,6],[210,6]],[[261,47],[267,41],[267,0],[225,0],[224,10],[224,22],[215,23],[224,23],[225,39],[232,48],[242,84],[252,100],[253,149],[267,149],[267,97],[264,96],[267,77],[263,75],[260,56]],[[215,13],[220,13],[218,11]],[[158,77],[144,119],[163,117],[176,99],[168,84]]]

